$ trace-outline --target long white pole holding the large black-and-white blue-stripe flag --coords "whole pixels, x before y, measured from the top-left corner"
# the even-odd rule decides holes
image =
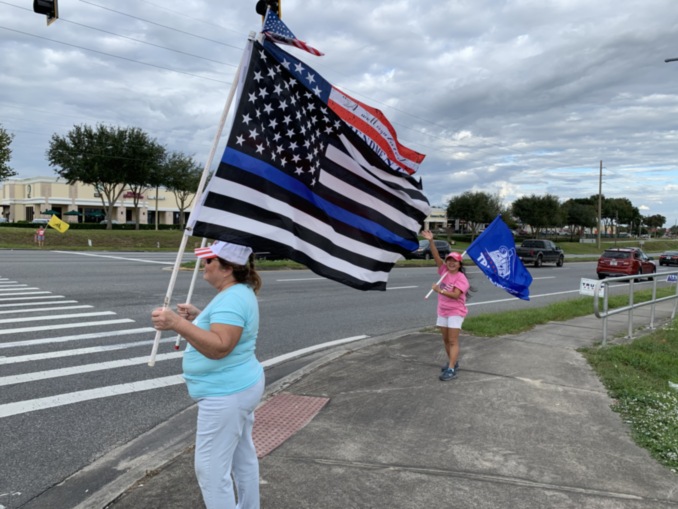
[[[217,132],[214,136],[214,142],[212,143],[212,150],[210,151],[210,155],[207,158],[207,162],[205,163],[205,168],[203,169],[202,172],[202,177],[200,178],[200,183],[198,184],[198,189],[195,192],[196,197],[201,198],[203,190],[205,189],[205,183],[207,181],[207,175],[209,174],[209,170],[212,167],[212,161],[214,161],[214,154],[217,151],[217,146],[219,145],[219,139],[221,138],[221,133],[224,129],[224,125],[226,124],[226,118],[228,117],[228,112],[231,109],[231,103],[233,102],[233,97],[235,96],[235,92],[238,88],[238,84],[240,82],[240,76],[242,74],[242,69],[244,67],[244,63],[249,59],[251,53],[252,53],[252,44],[254,41],[255,37],[254,32],[250,32],[250,36],[248,38],[248,44],[245,47],[245,51],[243,52],[243,56],[240,59],[240,64],[238,65],[238,69],[235,71],[235,77],[233,79],[233,83],[231,84],[231,90],[228,93],[228,98],[226,99],[226,104],[224,105],[224,111],[221,114],[221,120],[219,123],[219,128],[217,129]],[[196,211],[197,207],[193,207],[193,211],[191,212],[191,215]],[[190,223],[190,216],[189,216],[189,223]],[[174,262],[174,268],[172,269],[172,277],[170,278],[169,286],[167,288],[167,294],[165,295],[165,300],[163,301],[162,307],[163,308],[168,308],[170,305],[170,301],[172,300],[172,293],[174,292],[174,285],[176,284],[177,281],[177,274],[179,273],[179,268],[181,267],[181,260],[184,256],[184,251],[186,250],[186,244],[188,243],[188,237],[190,237],[190,233],[188,231],[188,228],[184,230],[184,235],[181,239],[181,245],[179,246],[179,251],[177,252],[177,259]],[[197,263],[197,262],[196,262]],[[153,367],[155,366],[155,357],[158,354],[158,347],[160,346],[160,336],[162,334],[162,331],[156,331],[155,333],[155,340],[153,341],[153,348],[151,349],[151,356],[148,359],[148,365]]]

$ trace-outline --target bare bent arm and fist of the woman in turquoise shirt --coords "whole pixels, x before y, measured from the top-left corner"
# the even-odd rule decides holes
[[[151,320],[156,330],[173,330],[208,359],[226,357],[242,335],[242,327],[222,323],[210,324],[210,330],[206,331],[166,308],[155,309]]]

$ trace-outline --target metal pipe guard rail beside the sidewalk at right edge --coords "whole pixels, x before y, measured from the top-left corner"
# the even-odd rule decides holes
[[[596,315],[597,318],[601,318],[603,320],[603,346],[607,343],[607,319],[610,316],[613,315],[618,315],[621,313],[628,313],[628,335],[627,337],[629,339],[633,339],[633,310],[637,308],[641,308],[644,306],[652,306],[652,310],[650,312],[650,329],[654,329],[654,318],[655,318],[655,306],[656,304],[664,301],[669,301],[673,300],[675,301],[675,304],[673,306],[673,312],[671,313],[671,320],[673,320],[676,317],[676,308],[678,307],[678,284],[676,284],[676,293],[674,295],[668,295],[666,297],[660,297],[657,298],[657,281],[658,279],[661,278],[668,278],[670,275],[676,275],[678,277],[678,270],[672,270],[672,271],[667,271],[667,272],[661,272],[661,273],[653,273],[653,274],[642,274],[642,275],[635,275],[635,276],[621,276],[621,277],[610,277],[610,278],[605,278],[601,281],[598,281],[598,283],[595,286],[595,289],[593,291],[593,312]],[[637,279],[651,279],[652,280],[652,298],[646,302],[638,302],[634,303],[633,302],[633,297],[634,297],[634,290],[635,290],[635,282]],[[609,292],[609,283],[623,283],[625,281],[629,282],[629,303],[628,305],[621,307],[621,308],[616,308],[610,310],[608,307],[608,297],[610,295]],[[599,309],[600,306],[600,291],[601,289],[603,290],[603,309],[602,311]]]

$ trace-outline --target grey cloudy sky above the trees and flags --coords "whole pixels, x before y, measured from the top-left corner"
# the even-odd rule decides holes
[[[139,127],[208,160],[256,0],[0,0],[0,125],[19,178],[53,133]],[[626,197],[678,221],[675,0],[282,0],[325,53],[285,48],[427,155],[433,205],[464,191]],[[216,160],[223,151],[225,131]]]

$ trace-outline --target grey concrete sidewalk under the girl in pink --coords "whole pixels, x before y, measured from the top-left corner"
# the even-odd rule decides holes
[[[672,305],[657,308],[657,321]],[[638,325],[649,323],[637,312]],[[625,317],[609,324],[626,331]],[[601,338],[594,316],[500,338],[462,335],[456,380],[438,380],[439,334],[342,347],[269,387],[329,402],[261,460],[265,509],[676,508],[678,476],[636,446],[576,351]],[[203,507],[189,448],[111,502]],[[102,498],[104,497],[104,498]]]

